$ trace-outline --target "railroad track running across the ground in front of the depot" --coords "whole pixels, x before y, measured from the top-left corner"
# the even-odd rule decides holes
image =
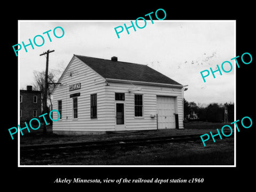
[[[78,150],[93,150],[93,149],[105,149],[115,146],[145,146],[154,143],[171,143],[182,141],[196,141],[201,140],[202,134],[191,135],[175,135],[166,137],[150,137],[150,138],[134,138],[134,139],[118,139],[118,140],[104,140],[104,141],[87,141],[87,142],[71,142],[71,143],[59,143],[51,145],[33,145],[33,146],[21,146],[20,154],[42,154],[42,153],[60,153],[63,151],[78,151]]]

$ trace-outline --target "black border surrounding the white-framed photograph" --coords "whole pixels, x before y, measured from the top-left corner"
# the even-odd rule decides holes
[[[238,186],[250,189],[254,182],[254,135],[255,135],[255,94],[254,70],[255,69],[255,10],[253,3],[238,2],[223,4],[222,2],[195,3],[193,1],[180,3],[167,1],[157,3],[126,2],[52,2],[38,3],[6,3],[2,10],[2,129],[1,146],[2,159],[2,185],[6,189],[17,190],[52,190],[53,188],[77,190],[114,190],[117,188],[142,187],[154,190],[223,190],[235,189]],[[11,140],[8,129],[18,125],[18,60],[12,45],[18,42],[18,20],[135,20],[143,15],[164,9],[167,17],[165,20],[236,20],[236,55],[249,52],[253,61],[250,65],[242,62],[236,68],[236,119],[249,116],[253,119],[250,129],[241,129],[237,133],[237,167],[18,167],[18,139]],[[6,11],[4,11],[6,9]],[[159,16],[159,18],[161,18]],[[146,30],[146,29],[145,29]],[[238,61],[241,61],[238,59]],[[221,87],[220,87],[221,89]],[[225,95],[223,95],[225,97]],[[218,127],[217,127],[218,128]],[[254,177],[254,178],[253,178]],[[114,184],[86,184],[86,183],[53,183],[56,178],[82,178],[82,179],[151,179],[173,178],[191,179],[204,178],[204,183],[127,183]]]

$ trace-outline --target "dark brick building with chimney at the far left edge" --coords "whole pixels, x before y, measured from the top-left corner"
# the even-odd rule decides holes
[[[28,85],[27,90],[20,90],[20,124],[29,122],[31,118],[42,114],[42,92],[33,91]]]

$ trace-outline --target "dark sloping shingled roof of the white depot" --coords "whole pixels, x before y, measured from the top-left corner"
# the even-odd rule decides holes
[[[173,79],[146,65],[122,61],[111,61],[82,55],[75,55],[75,57],[84,62],[87,66],[92,68],[104,78],[181,85],[178,82],[175,82]]]

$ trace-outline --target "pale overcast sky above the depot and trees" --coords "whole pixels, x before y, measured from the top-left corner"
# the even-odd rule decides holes
[[[135,22],[135,21],[133,21]],[[63,71],[73,54],[89,57],[111,59],[139,63],[159,71],[182,85],[188,85],[184,92],[187,101],[196,103],[234,102],[234,72],[216,74],[206,77],[206,83],[200,71],[210,67],[221,66],[223,61],[230,61],[235,55],[235,22],[234,21],[168,21],[150,20],[143,29],[134,31],[130,28],[128,35],[124,29],[117,38],[114,28],[131,25],[131,21],[20,21],[19,42],[28,44],[34,36],[42,35],[45,43],[41,47],[27,46],[28,52],[22,47],[19,54],[20,89],[34,84],[33,71],[45,70],[45,55],[50,53],[49,70]],[[142,23],[139,23],[143,26]],[[55,27],[62,27],[65,35],[56,38]],[[52,42],[45,31],[50,31]],[[119,29],[118,29],[119,30]],[[61,30],[56,30],[61,35]],[[38,37],[37,43],[41,44]],[[15,55],[15,53],[13,52]],[[225,67],[229,70],[229,67]],[[61,74],[58,74],[58,77]]]

